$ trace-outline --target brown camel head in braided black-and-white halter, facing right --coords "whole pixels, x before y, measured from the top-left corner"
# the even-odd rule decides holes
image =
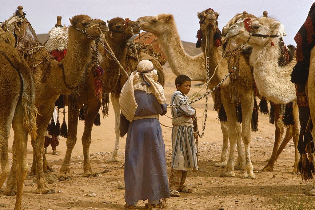
[[[103,20],[91,19],[88,15],[76,15],[72,19],[69,18],[69,20],[72,26],[70,28],[77,29],[73,32],[80,40],[90,39],[88,36],[95,39],[108,31],[108,27]],[[84,31],[86,31],[86,34],[84,34]]]

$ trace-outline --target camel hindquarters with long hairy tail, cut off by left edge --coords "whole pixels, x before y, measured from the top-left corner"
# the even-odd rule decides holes
[[[10,43],[0,27],[0,188],[9,174],[8,139],[11,123],[14,131],[13,161],[17,162],[17,197],[14,209],[22,209],[22,191],[28,170],[26,146],[28,134],[37,137],[35,85],[31,69]],[[12,34],[11,34],[12,35]],[[13,35],[12,35],[13,36]],[[11,37],[12,37],[11,36]],[[10,41],[9,41],[10,40]]]

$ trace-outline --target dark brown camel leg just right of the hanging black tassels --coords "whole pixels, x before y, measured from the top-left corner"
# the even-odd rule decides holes
[[[65,159],[60,168],[60,173],[57,176],[58,180],[66,180],[71,179],[70,176],[70,158],[72,149],[77,142],[77,125],[78,125],[78,117],[79,117],[79,110],[76,109],[72,105],[72,103],[68,104],[68,138],[67,138],[67,150]],[[72,117],[71,117],[72,116]]]

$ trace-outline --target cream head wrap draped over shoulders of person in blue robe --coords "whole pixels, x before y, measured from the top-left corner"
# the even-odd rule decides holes
[[[148,60],[140,61],[137,71],[130,74],[120,94],[120,109],[127,120],[132,121],[138,107],[135,100],[135,90],[152,93],[160,104],[166,102],[164,89],[157,80],[157,70],[153,69],[152,62]]]

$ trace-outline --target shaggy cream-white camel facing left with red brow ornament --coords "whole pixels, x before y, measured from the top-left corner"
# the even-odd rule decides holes
[[[279,21],[266,17],[253,20],[251,25],[253,33],[260,35],[279,35],[279,31],[284,29]],[[281,33],[279,36],[281,37]],[[278,46],[280,39],[278,37],[261,38],[259,36],[252,36],[246,30],[244,22],[232,25],[228,31],[227,37],[253,46],[249,61],[254,68],[253,74],[259,94],[265,96],[268,100],[271,100],[276,104],[293,102],[294,124],[292,129],[293,142],[295,144],[295,163],[293,172],[298,173],[298,106],[296,104],[295,86],[290,81],[290,74],[296,64],[295,59],[283,67],[279,66],[278,57],[280,55],[280,47]],[[273,41],[274,46],[271,45],[271,40]]]

